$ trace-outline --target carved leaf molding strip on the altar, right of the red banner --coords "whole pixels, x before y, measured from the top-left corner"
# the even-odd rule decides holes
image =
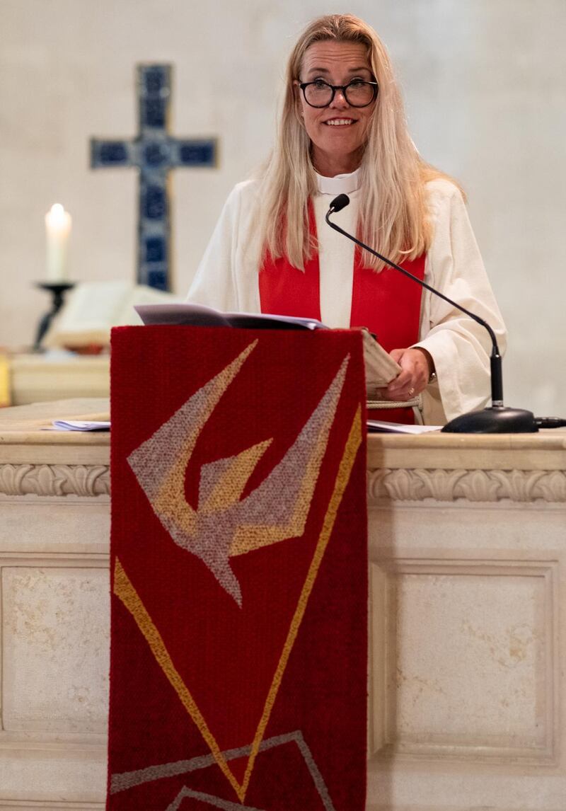
[[[563,470],[391,470],[368,474],[370,501],[549,501],[566,502]]]

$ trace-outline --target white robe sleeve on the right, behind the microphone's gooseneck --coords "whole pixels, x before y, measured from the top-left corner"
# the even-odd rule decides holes
[[[425,281],[486,320],[503,354],[504,323],[460,191],[448,181],[435,181],[430,193],[434,235]],[[423,393],[425,422],[443,423],[486,405],[491,394],[486,328],[424,290],[420,335],[415,346],[430,352],[437,375]]]

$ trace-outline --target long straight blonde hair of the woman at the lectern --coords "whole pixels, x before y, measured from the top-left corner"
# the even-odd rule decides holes
[[[302,60],[315,42],[359,42],[367,47],[371,71],[379,84],[361,163],[364,189],[358,236],[392,260],[416,259],[431,243],[425,183],[448,178],[422,160],[409,136],[401,92],[384,44],[373,28],[354,15],[326,15],[307,26],[289,56],[285,100],[275,148],[260,181],[257,223],[264,255],[285,255],[304,268],[316,250],[308,221],[308,200],[318,191],[311,143],[298,114],[294,83]],[[453,181],[452,181],[453,182]],[[457,184],[456,184],[457,185]],[[368,267],[383,263],[364,256]]]

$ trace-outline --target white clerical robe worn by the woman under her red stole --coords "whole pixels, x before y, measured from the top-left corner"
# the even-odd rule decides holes
[[[332,219],[356,232],[359,171],[336,178],[318,176],[313,200],[319,239],[320,315],[324,324],[349,327],[354,279],[354,243],[328,228],[324,215],[333,197],[350,204]],[[253,217],[257,181],[238,183],[229,195],[197,269],[187,300],[218,310],[260,312],[261,245]],[[433,225],[425,281],[486,320],[504,351],[505,328],[483,267],[460,191],[451,182],[427,184]],[[379,247],[378,247],[379,250]],[[415,282],[416,284],[416,282]],[[435,362],[437,380],[422,393],[423,419],[432,425],[482,408],[490,397],[491,341],[487,331],[438,296],[422,291],[419,340]],[[402,347],[399,347],[402,348]]]

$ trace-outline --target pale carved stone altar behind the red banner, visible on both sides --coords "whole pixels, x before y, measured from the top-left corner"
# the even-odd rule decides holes
[[[0,808],[103,809],[105,399],[0,411]],[[368,811],[564,811],[566,431],[372,435]]]

